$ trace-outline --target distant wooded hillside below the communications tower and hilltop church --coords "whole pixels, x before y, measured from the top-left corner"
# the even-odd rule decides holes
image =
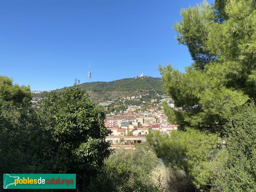
[[[144,95],[148,93],[148,97],[165,94],[161,78],[125,78],[110,82],[90,82],[80,84],[83,89],[92,97],[92,100],[105,101],[115,100],[118,97]],[[54,90],[62,92],[64,88]],[[158,95],[157,95],[158,94]]]

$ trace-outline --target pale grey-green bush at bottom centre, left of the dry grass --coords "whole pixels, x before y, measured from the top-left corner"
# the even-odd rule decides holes
[[[88,191],[159,191],[152,170],[160,163],[156,155],[143,146],[129,151],[116,149],[91,182]]]

